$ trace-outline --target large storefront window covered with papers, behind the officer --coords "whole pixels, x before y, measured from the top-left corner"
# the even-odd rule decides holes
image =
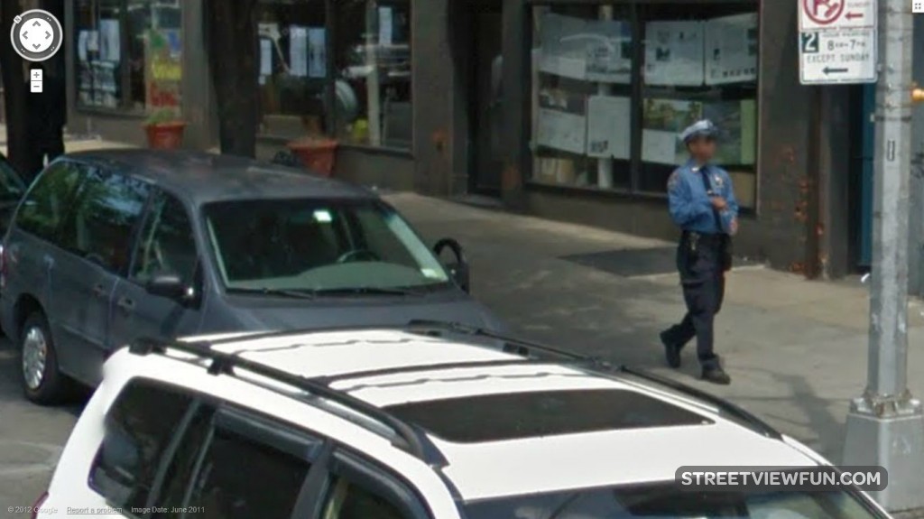
[[[533,18],[534,182],[664,193],[687,160],[678,133],[709,118],[716,163],[753,207],[756,3],[536,6]]]

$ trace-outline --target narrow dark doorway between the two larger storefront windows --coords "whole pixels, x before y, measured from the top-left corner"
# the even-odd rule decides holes
[[[470,31],[468,188],[471,193],[501,192],[501,128],[504,98],[501,84],[503,22],[499,2],[472,3]]]

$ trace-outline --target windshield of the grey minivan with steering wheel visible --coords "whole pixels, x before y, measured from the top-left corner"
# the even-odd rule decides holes
[[[374,292],[449,281],[407,223],[376,200],[235,200],[204,211],[230,290]]]

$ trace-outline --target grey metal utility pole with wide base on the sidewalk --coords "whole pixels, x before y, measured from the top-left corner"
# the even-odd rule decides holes
[[[868,382],[847,416],[844,465],[884,466],[889,486],[873,497],[902,511],[924,507],[924,414],[907,387],[911,2],[879,0],[878,19]]]

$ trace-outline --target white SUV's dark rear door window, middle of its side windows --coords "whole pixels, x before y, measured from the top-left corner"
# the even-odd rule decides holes
[[[257,427],[274,431],[264,434],[266,441],[232,425],[216,420],[188,490],[188,510],[223,519],[288,519],[310,469],[304,458],[320,449],[321,442],[297,440],[300,447],[286,448],[276,437],[278,425]]]

